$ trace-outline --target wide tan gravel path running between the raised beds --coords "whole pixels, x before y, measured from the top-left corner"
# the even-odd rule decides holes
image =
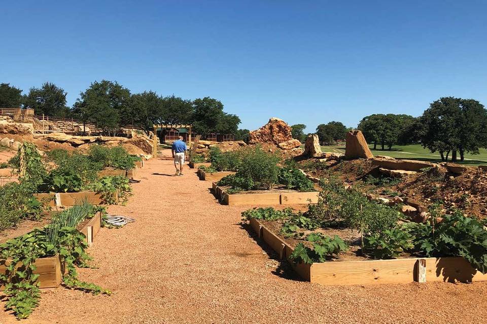
[[[150,160],[127,206],[136,219],[102,228],[82,279],[113,291],[44,291],[25,323],[480,323],[487,284],[322,287],[279,272],[238,222],[244,207],[219,205],[193,170]],[[0,312],[0,323],[18,322]]]

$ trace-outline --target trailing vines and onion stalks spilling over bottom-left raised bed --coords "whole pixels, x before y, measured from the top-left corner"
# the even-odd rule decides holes
[[[28,317],[39,305],[39,275],[34,274],[38,258],[60,256],[67,269],[63,274],[63,285],[66,288],[93,294],[110,294],[109,291],[77,277],[76,267],[89,266],[87,261],[90,257],[85,252],[86,237],[76,226],[86,217],[90,217],[94,210],[93,206],[87,204],[69,209],[54,217],[43,229],[35,229],[0,245],[0,258],[9,259],[5,274],[0,274],[0,284],[5,285],[5,307],[12,310],[17,318]]]

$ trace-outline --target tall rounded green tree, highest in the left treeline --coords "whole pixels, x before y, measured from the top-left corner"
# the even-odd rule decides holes
[[[82,120],[95,123],[108,135],[131,123],[131,116],[136,113],[130,105],[130,91],[108,80],[95,81],[80,93],[73,112]]]

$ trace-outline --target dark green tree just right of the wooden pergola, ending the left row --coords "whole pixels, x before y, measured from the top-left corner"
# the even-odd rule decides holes
[[[193,101],[193,130],[205,135],[210,133],[235,133],[240,118],[223,112],[220,100],[205,97]]]

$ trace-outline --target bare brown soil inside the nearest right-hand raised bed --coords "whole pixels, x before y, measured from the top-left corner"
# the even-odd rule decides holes
[[[299,243],[303,243],[307,247],[312,247],[312,243],[298,237],[285,237],[281,235],[281,228],[283,227],[284,221],[266,221],[259,219],[267,229],[273,232],[275,235],[279,236],[281,239],[286,241],[291,247],[295,248]],[[301,232],[301,231],[300,231]],[[349,245],[349,249],[341,252],[338,257],[333,258],[330,261],[340,262],[340,261],[364,261],[372,260],[369,257],[365,257],[361,254],[361,239],[360,232],[355,229],[350,228],[317,228],[315,230],[304,230],[303,237],[311,233],[321,233],[330,237],[338,235],[342,240]],[[405,259],[415,257],[409,253],[402,253],[396,259]]]

